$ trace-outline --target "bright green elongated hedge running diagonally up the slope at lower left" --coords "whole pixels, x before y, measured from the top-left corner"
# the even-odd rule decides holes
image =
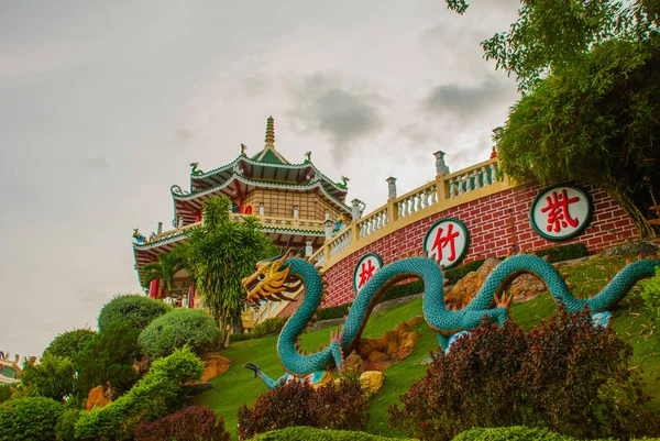
[[[131,439],[141,419],[172,414],[186,399],[185,385],[201,377],[204,363],[187,348],[154,362],[131,390],[106,407],[84,411],[76,437],[84,440]]]

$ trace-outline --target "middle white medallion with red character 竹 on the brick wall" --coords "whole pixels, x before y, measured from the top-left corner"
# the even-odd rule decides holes
[[[429,258],[440,261],[446,268],[458,265],[470,247],[470,234],[465,224],[458,219],[441,219],[429,229],[424,238],[424,251]]]

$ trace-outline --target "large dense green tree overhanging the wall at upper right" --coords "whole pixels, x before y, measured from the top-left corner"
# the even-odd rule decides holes
[[[522,0],[509,30],[482,42],[524,92],[499,135],[501,169],[601,187],[642,236],[660,196],[659,12],[657,0]]]

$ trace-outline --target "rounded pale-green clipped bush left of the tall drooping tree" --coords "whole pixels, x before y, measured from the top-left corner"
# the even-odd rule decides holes
[[[140,344],[154,359],[169,355],[188,345],[197,355],[218,348],[220,329],[199,309],[175,309],[151,322],[140,334]]]

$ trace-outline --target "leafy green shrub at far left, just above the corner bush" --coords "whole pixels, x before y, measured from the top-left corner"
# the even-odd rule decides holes
[[[26,359],[14,397],[41,396],[62,401],[74,393],[76,366],[69,359],[46,353],[40,363]]]

